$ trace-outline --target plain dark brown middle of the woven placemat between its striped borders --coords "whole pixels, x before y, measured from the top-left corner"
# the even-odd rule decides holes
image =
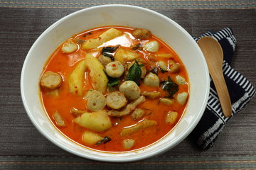
[[[20,75],[23,60],[38,36],[63,16],[77,8],[0,8],[0,155],[35,157],[71,157],[56,147],[33,127],[23,108],[20,95]],[[154,8],[168,16],[191,35],[207,30],[233,28],[238,43],[232,67],[256,85],[256,14],[246,10],[191,10]],[[255,98],[228,122],[213,148],[199,150],[189,137],[159,157],[168,161],[172,157],[219,157],[223,155],[254,155],[256,153]]]

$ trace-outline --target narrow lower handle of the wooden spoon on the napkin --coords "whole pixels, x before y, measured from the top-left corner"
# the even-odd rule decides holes
[[[212,77],[213,83],[217,90],[217,94],[220,99],[220,106],[223,109],[223,114],[228,118],[232,114],[232,107],[223,72],[215,72],[215,74],[210,74],[210,76]]]

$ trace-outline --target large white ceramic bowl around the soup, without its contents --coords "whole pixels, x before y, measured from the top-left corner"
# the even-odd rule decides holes
[[[188,71],[190,97],[186,113],[166,137],[132,152],[98,152],[72,142],[50,122],[39,97],[39,79],[46,60],[56,47],[76,33],[100,26],[146,28],[167,42],[181,57]],[[156,156],[178,145],[195,128],[203,115],[209,93],[209,74],[200,48],[177,23],[146,8],[106,5],[85,8],[60,19],[36,40],[21,72],[21,96],[28,117],[39,132],[72,154],[103,162],[133,162]]]

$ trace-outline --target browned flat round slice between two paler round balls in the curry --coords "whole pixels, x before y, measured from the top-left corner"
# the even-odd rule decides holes
[[[107,107],[119,109],[126,105],[127,98],[120,91],[113,91],[107,94]]]

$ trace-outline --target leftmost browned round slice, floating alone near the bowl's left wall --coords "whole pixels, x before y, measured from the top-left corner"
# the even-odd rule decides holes
[[[55,72],[45,72],[41,77],[40,84],[46,89],[55,90],[61,84],[61,77],[60,74]]]

